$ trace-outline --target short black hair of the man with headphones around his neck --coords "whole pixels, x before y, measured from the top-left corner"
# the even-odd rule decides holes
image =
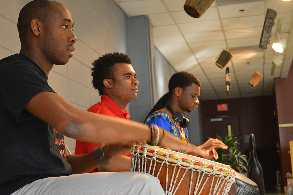
[[[185,89],[186,87],[191,86],[193,83],[201,86],[200,80],[194,74],[185,71],[173,74],[171,79],[169,80],[168,85],[169,97],[172,96],[172,92],[176,87]]]

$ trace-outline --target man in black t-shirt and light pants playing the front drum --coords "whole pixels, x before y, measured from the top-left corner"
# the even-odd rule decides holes
[[[79,174],[96,167],[103,152],[109,157],[117,148],[129,151],[124,146],[130,143],[150,142],[151,131],[141,123],[79,110],[48,85],[53,65],[73,56],[72,27],[69,11],[55,1],[32,1],[19,14],[20,53],[0,61],[0,194],[164,194],[148,174]],[[208,155],[159,131],[161,146]],[[109,145],[99,155],[66,156],[63,135]]]

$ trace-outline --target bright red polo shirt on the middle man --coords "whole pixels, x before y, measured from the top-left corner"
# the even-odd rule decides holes
[[[97,104],[94,104],[90,108],[88,108],[89,112],[98,113],[98,114],[104,114],[108,116],[118,117],[118,118],[124,118],[126,120],[129,120],[130,114],[127,112],[126,108],[125,111],[123,111],[111,98],[108,96],[101,96],[101,101]],[[81,142],[76,140],[75,144],[75,154],[86,154],[88,152],[93,151],[96,147],[100,146],[101,144],[93,144],[93,143],[87,143],[87,142]],[[125,154],[125,156],[130,157],[130,153]],[[94,169],[91,172],[99,172],[98,169]]]

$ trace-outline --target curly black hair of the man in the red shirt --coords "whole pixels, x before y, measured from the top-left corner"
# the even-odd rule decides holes
[[[115,72],[114,65],[116,63],[131,64],[131,60],[126,54],[114,52],[107,53],[92,63],[92,83],[93,87],[98,89],[100,95],[103,95],[104,79],[112,79],[115,82],[113,73]]]

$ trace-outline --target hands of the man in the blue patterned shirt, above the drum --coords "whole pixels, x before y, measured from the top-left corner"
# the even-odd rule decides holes
[[[214,139],[214,138],[210,138],[209,140],[207,140],[204,144],[198,146],[201,149],[206,149],[209,150],[209,157],[207,159],[215,159],[218,160],[219,155],[216,152],[215,148],[219,147],[222,149],[227,149],[228,146],[226,146],[221,140],[218,139]]]

